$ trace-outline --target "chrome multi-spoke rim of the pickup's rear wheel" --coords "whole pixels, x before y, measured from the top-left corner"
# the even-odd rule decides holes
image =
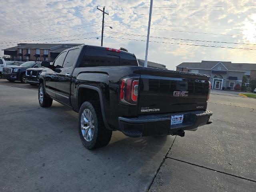
[[[81,117],[81,131],[86,141],[91,141],[94,135],[94,120],[92,112],[85,109]]]

